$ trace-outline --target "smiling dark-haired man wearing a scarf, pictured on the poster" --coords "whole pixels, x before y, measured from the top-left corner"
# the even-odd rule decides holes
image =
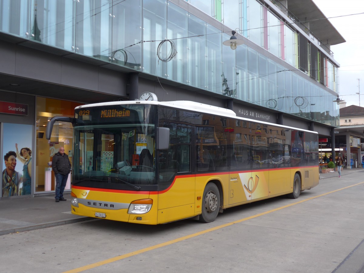
[[[21,175],[15,171],[16,153],[9,151],[4,156],[3,197],[19,195],[19,185],[23,182]]]

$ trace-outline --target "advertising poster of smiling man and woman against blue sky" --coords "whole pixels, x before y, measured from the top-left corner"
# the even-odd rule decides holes
[[[31,194],[33,126],[2,123],[2,127],[2,196]]]

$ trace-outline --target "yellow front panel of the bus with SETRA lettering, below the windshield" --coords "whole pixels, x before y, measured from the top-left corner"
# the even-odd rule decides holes
[[[129,218],[131,217],[131,222],[134,222],[133,219],[136,217],[142,217],[142,220],[135,222],[147,223],[150,225],[155,225],[157,222],[157,194],[135,194],[135,191],[132,191],[132,193],[97,191],[90,190],[90,188],[81,187],[79,189],[72,187],[72,193],[74,193],[79,199],[79,207],[74,207],[71,205],[72,214],[95,217],[95,213],[98,212],[105,213],[106,218],[104,219],[108,220],[129,222]],[[145,198],[153,199],[153,205],[148,213],[128,214],[128,207],[132,201]],[[123,208],[112,209],[111,205],[115,207],[122,206]]]

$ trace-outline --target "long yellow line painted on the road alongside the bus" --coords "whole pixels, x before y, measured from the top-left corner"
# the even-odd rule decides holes
[[[85,265],[85,266],[82,266],[82,267],[79,267],[79,268],[75,268],[75,269],[66,271],[64,273],[82,272],[84,270],[92,269],[92,268],[95,268],[95,267],[98,267],[98,266],[101,266],[101,265],[110,264],[111,262],[123,260],[125,258],[135,256],[135,255],[138,255],[138,254],[150,251],[150,250],[154,250],[154,249],[157,249],[157,248],[162,248],[163,246],[167,246],[167,245],[171,245],[171,244],[174,244],[174,243],[177,243],[177,242],[181,242],[181,241],[184,241],[184,240],[199,236],[201,234],[209,233],[209,232],[217,230],[217,229],[222,229],[223,227],[231,226],[231,225],[234,225],[236,223],[241,223],[241,222],[244,222],[246,220],[257,218],[257,217],[260,217],[260,216],[265,215],[265,214],[272,213],[272,212],[277,211],[277,210],[285,209],[286,207],[294,206],[294,205],[297,205],[297,204],[312,200],[314,198],[318,198],[318,197],[321,197],[321,196],[324,196],[324,195],[335,193],[336,191],[345,190],[345,189],[348,189],[350,187],[354,187],[354,186],[357,186],[357,185],[360,185],[360,184],[363,184],[363,183],[364,182],[360,182],[360,183],[357,183],[357,184],[354,184],[354,185],[351,185],[351,186],[347,186],[347,187],[344,187],[344,188],[341,188],[341,189],[338,189],[338,190],[329,191],[328,193],[323,193],[323,194],[320,194],[320,195],[316,195],[314,197],[310,197],[310,198],[307,198],[307,199],[304,199],[304,200],[301,200],[301,201],[298,201],[298,202],[295,202],[295,203],[291,203],[289,205],[285,205],[285,206],[282,206],[282,207],[277,207],[276,209],[268,210],[268,211],[265,211],[263,213],[252,215],[252,216],[249,216],[249,217],[246,217],[246,218],[243,218],[243,219],[240,219],[240,220],[236,220],[236,221],[233,221],[233,222],[225,223],[223,225],[211,227],[210,229],[202,230],[200,232],[196,232],[196,233],[193,233],[193,234],[190,234],[190,235],[187,235],[187,236],[183,236],[183,237],[180,237],[180,238],[177,238],[177,239],[174,239],[174,240],[170,240],[170,241],[158,244],[158,245],[150,246],[148,248],[139,249],[137,251],[130,252],[130,253],[127,253],[127,254],[124,254],[124,255],[116,256],[116,257],[113,257],[113,258],[110,258],[110,259],[95,262],[95,263],[90,264],[90,265]]]

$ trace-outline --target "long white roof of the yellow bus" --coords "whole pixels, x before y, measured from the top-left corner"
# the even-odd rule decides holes
[[[265,122],[265,121],[261,121],[261,120],[249,119],[249,118],[245,118],[242,116],[237,116],[233,110],[218,107],[218,106],[212,106],[209,104],[199,103],[199,102],[192,102],[189,100],[175,100],[175,101],[170,101],[170,102],[158,102],[155,100],[124,100],[124,101],[118,101],[118,102],[100,102],[100,103],[92,103],[92,104],[85,104],[85,105],[77,106],[77,107],[75,107],[75,110],[80,109],[80,108],[85,108],[85,107],[123,105],[123,104],[154,104],[154,105],[167,106],[167,107],[172,107],[172,108],[179,108],[179,109],[183,109],[183,110],[187,110],[187,111],[191,111],[191,112],[202,112],[202,113],[211,114],[211,115],[221,115],[221,116],[225,116],[226,118],[235,118],[235,119],[238,118],[238,119],[246,120],[249,122],[264,123],[264,124],[268,124],[268,125],[281,126],[281,127],[285,127],[285,128],[306,131],[306,132],[314,132],[314,133],[318,134],[315,131],[305,130],[305,129],[296,128],[296,127],[290,127],[290,126],[284,126],[281,124],[270,123],[270,122]]]

